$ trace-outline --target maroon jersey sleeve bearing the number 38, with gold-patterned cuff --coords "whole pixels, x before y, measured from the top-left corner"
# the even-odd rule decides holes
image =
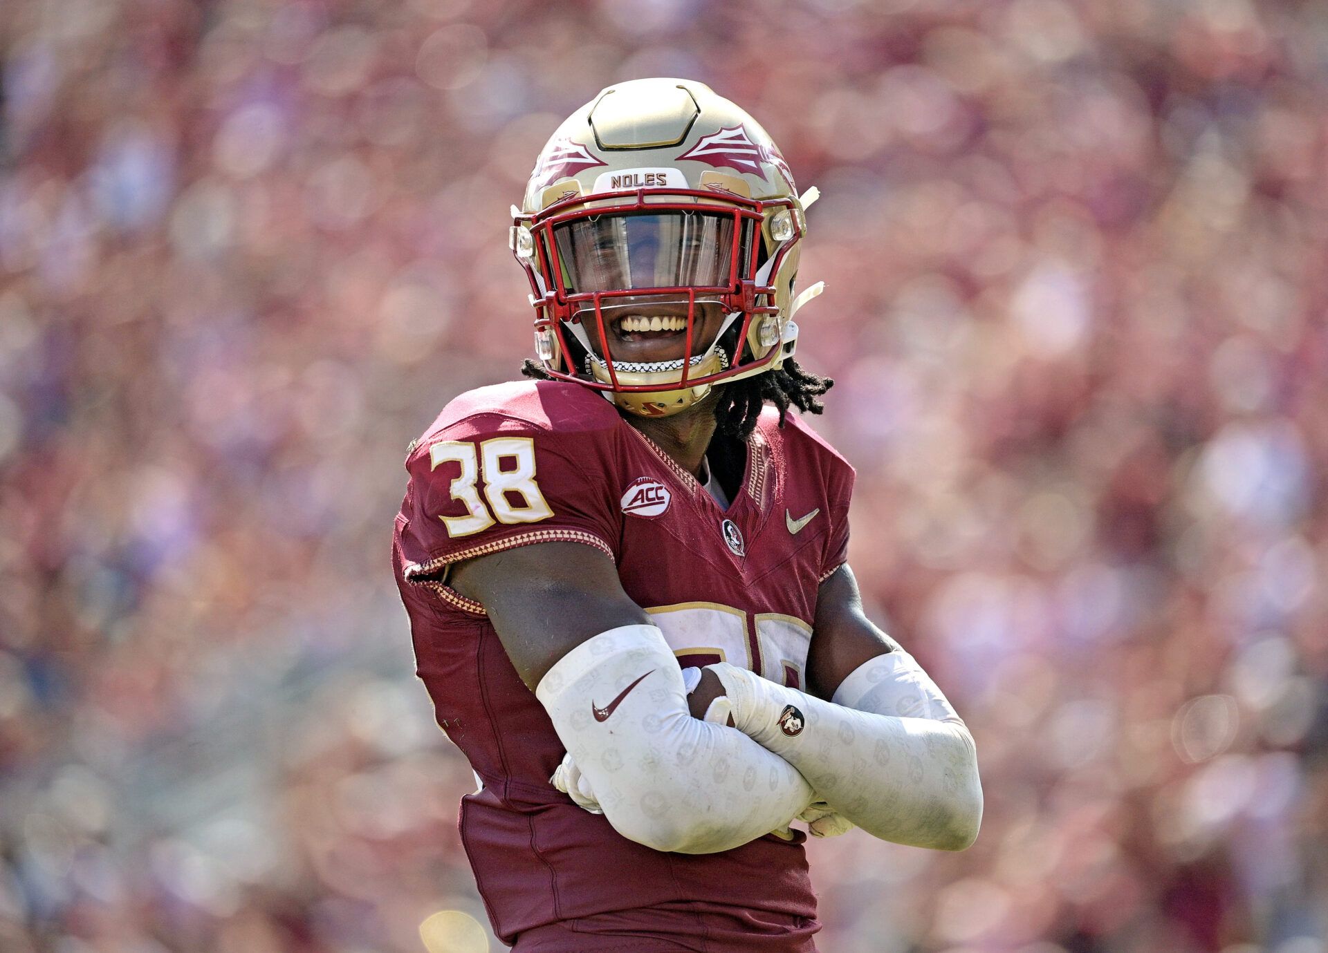
[[[406,458],[401,532],[409,581],[533,543],[584,543],[610,559],[622,522],[611,499],[612,445],[602,433],[559,433],[477,414],[429,434]]]

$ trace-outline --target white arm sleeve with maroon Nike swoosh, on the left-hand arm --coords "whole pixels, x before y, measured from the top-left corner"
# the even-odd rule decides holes
[[[582,642],[535,697],[608,823],[656,851],[728,851],[786,826],[813,800],[777,754],[691,715],[677,658],[653,625]]]

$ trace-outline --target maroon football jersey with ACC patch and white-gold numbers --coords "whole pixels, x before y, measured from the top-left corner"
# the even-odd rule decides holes
[[[462,798],[461,835],[509,944],[539,928],[590,934],[631,924],[615,934],[632,936],[632,949],[652,949],[651,936],[677,949],[664,937],[676,940],[691,912],[705,934],[699,950],[814,949],[801,831],[722,853],[661,853],[576,807],[548,783],[563,746],[547,713],[483,607],[445,584],[449,563],[584,543],[616,563],[681,665],[722,660],[801,688],[817,588],[845,560],[853,469],[795,414],[781,429],[772,407],[746,458],[722,510],[603,397],[544,381],[462,394],[413,445],[397,583],[438,725],[482,783]]]

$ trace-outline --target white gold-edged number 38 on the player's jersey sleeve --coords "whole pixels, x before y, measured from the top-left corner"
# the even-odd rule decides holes
[[[470,536],[494,523],[538,523],[554,515],[535,483],[535,442],[529,437],[494,437],[478,446],[469,441],[442,441],[429,447],[429,462],[432,470],[448,462],[461,465],[449,490],[467,512],[438,518],[449,536]],[[483,499],[477,487],[479,480],[483,480]]]

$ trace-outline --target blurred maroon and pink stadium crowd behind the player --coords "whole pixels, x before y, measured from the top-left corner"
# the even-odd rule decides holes
[[[4,0],[0,60],[5,953],[502,949],[389,532],[643,76],[819,186],[851,563],[977,739],[969,851],[809,845],[821,949],[1328,949],[1328,7]]]

